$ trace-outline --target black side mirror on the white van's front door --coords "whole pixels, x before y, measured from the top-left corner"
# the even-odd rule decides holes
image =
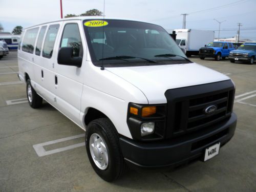
[[[81,67],[82,57],[73,57],[73,47],[62,47],[58,53],[58,64]]]

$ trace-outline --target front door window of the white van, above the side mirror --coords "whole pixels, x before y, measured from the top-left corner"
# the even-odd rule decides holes
[[[67,24],[63,30],[60,47],[72,47],[73,56],[82,56],[81,36],[77,24]]]

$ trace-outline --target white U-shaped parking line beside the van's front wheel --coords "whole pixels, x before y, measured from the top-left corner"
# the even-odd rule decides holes
[[[80,135],[75,135],[75,136],[71,136],[71,137],[65,137],[65,138],[62,138],[62,139],[56,139],[56,140],[53,140],[53,141],[48,141],[48,142],[45,142],[45,143],[35,144],[35,145],[33,145],[33,148],[34,148],[36,154],[38,155],[38,157],[51,155],[51,154],[55,154],[55,153],[59,153],[59,152],[67,151],[67,150],[72,150],[73,148],[84,146],[85,143],[84,142],[77,143],[77,144],[69,145],[69,146],[66,146],[66,147],[56,148],[56,149],[50,150],[50,151],[46,151],[44,146],[55,144],[55,143],[60,143],[60,142],[68,141],[68,140],[72,140],[72,139],[77,139],[77,138],[80,138],[80,137],[84,137],[85,135],[86,134],[80,134]]]

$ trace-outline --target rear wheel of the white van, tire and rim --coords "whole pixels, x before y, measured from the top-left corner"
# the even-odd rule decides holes
[[[39,108],[42,105],[42,98],[35,92],[31,86],[30,79],[27,80],[27,98],[31,108]]]

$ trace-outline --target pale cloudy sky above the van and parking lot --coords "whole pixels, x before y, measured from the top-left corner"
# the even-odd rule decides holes
[[[186,28],[214,30],[220,38],[236,36],[256,41],[256,0],[62,0],[63,15],[98,9],[107,17],[121,17],[154,23],[165,29],[181,29],[187,13]],[[0,24],[7,32],[60,19],[60,0],[0,0]]]

